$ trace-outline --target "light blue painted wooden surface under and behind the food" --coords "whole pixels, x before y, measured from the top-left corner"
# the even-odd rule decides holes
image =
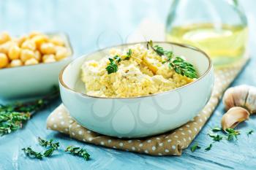
[[[249,19],[249,50],[252,60],[232,85],[256,85],[256,2],[254,0],[241,2]],[[32,30],[64,31],[69,34],[75,56],[78,57],[105,45],[125,42],[127,36],[135,30],[143,18],[157,18],[159,22],[165,22],[169,6],[169,0],[1,0],[0,31],[7,30],[14,35]],[[110,37],[110,41],[106,41]],[[0,77],[0,81],[4,80]],[[7,101],[1,101],[4,102]],[[153,157],[85,144],[46,130],[46,118],[60,103],[59,99],[47,109],[38,112],[22,130],[0,137],[0,170],[256,169],[256,134],[250,137],[245,134],[251,128],[256,131],[255,116],[239,125],[243,134],[239,136],[237,142],[217,142],[209,152],[204,150],[191,152],[187,149],[182,156]],[[208,129],[219,125],[223,112],[223,104],[219,104],[194,142],[198,142],[202,147],[208,146],[211,142],[207,137]],[[91,160],[83,161],[82,158],[62,152],[42,161],[27,158],[21,148],[31,145],[35,149],[41,149],[36,145],[37,136],[57,139],[62,146],[72,144],[86,147],[91,154]]]

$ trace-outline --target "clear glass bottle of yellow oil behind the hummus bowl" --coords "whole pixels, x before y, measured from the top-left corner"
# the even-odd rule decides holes
[[[216,66],[238,61],[246,53],[248,28],[237,1],[177,0],[172,8],[166,26],[167,41],[200,48]]]

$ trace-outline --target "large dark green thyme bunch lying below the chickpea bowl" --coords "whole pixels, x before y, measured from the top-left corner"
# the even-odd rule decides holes
[[[50,104],[50,101],[57,96],[59,96],[59,90],[55,88],[53,93],[39,100],[7,105],[0,104],[0,136],[22,128],[23,123],[26,123],[31,115]]]

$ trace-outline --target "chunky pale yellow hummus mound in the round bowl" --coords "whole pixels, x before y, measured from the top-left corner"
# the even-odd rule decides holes
[[[132,53],[127,58],[127,52]],[[117,71],[109,74],[109,58],[118,56]],[[165,55],[159,56],[154,50],[143,45],[132,45],[127,49],[112,49],[99,61],[86,61],[81,67],[81,80],[86,87],[86,94],[99,97],[129,98],[147,96],[173,90],[195,79],[177,74],[170,69]]]

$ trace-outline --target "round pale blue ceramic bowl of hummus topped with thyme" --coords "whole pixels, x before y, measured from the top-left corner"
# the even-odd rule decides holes
[[[138,138],[192,120],[211,96],[214,72],[208,55],[195,47],[141,42],[76,58],[62,70],[59,85],[64,106],[80,125]]]

